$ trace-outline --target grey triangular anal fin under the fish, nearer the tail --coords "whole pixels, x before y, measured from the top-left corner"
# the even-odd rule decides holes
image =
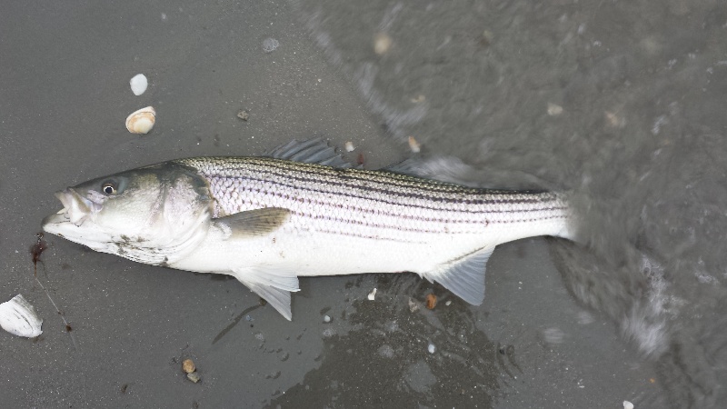
[[[486,247],[463,255],[440,268],[423,274],[429,281],[442,284],[447,290],[473,305],[483,304],[484,272],[494,247]]]

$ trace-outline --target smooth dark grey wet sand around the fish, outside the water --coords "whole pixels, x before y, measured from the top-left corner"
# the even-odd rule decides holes
[[[413,274],[301,279],[294,320],[233,279],[134,264],[46,237],[53,192],[192,155],[261,155],[323,136],[351,160],[409,155],[330,64],[300,5],[12,5],[0,15],[0,298],[44,334],[0,334],[8,407],[649,407],[655,369],[573,300],[544,238],[504,244],[473,307]],[[264,52],[266,38],[279,47]],[[134,96],[129,79],[147,75]],[[149,135],[124,118],[154,105]],[[240,110],[248,121],[237,118]],[[451,137],[456,138],[456,135]],[[374,254],[372,254],[374,255]],[[330,254],[341,257],[344,254]],[[374,287],[378,294],[368,301]],[[440,304],[409,310],[429,293]],[[447,305],[447,301],[452,301]],[[333,318],[324,323],[324,315]],[[428,345],[434,344],[433,354]],[[180,366],[192,358],[202,381]],[[656,401],[658,402],[658,401]]]

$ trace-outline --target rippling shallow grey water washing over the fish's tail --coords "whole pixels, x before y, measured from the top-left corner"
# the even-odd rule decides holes
[[[553,255],[657,365],[662,397],[642,404],[723,402],[724,5],[302,4],[394,139],[463,159],[483,185],[573,192],[587,251]]]

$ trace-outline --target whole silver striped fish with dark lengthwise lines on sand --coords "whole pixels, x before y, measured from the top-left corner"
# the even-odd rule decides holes
[[[228,274],[291,320],[298,277],[413,272],[484,300],[498,244],[573,239],[567,197],[457,185],[412,161],[354,167],[321,139],[190,157],[67,187],[43,230],[144,264]]]

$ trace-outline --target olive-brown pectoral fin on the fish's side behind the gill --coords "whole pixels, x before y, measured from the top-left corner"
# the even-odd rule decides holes
[[[263,235],[283,225],[289,216],[288,209],[265,207],[214,219],[214,225],[222,229],[227,237]]]

